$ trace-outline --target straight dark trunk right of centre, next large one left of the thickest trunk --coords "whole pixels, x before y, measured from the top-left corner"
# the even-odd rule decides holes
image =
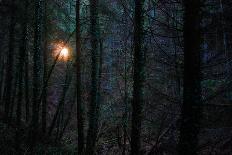
[[[143,0],[135,0],[134,15],[134,85],[132,101],[131,155],[140,154],[140,136],[143,107],[144,53],[143,38]]]

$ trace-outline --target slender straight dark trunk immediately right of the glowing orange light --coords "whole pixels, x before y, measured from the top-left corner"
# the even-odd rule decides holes
[[[78,154],[84,150],[84,117],[81,102],[81,33],[80,33],[80,0],[76,1],[76,102],[77,102],[77,131]]]

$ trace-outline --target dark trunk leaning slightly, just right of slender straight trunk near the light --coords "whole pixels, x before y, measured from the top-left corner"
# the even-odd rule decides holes
[[[98,130],[98,83],[99,83],[99,49],[98,49],[98,0],[90,0],[90,35],[91,35],[91,55],[92,55],[92,74],[91,74],[91,103],[89,106],[89,128],[87,133],[86,155],[93,155]]]

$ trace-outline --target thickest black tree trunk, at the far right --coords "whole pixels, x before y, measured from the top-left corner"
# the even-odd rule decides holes
[[[184,1],[184,92],[180,155],[196,155],[201,118],[200,0]]]

